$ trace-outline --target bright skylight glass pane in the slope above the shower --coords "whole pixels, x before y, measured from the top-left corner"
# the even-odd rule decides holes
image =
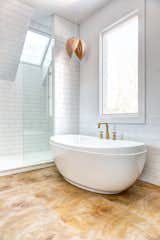
[[[41,65],[48,43],[48,37],[28,31],[21,55],[21,62]]]

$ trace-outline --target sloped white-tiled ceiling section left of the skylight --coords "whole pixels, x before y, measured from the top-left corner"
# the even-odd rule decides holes
[[[5,0],[0,8],[0,80],[14,81],[32,8]]]

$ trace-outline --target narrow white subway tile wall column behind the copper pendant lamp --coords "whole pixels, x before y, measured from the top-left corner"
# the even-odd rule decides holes
[[[54,16],[54,133],[79,132],[80,64],[76,57],[69,58],[66,40],[79,35],[79,26]]]

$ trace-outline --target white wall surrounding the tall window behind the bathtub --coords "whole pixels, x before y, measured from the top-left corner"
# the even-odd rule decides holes
[[[149,146],[142,179],[160,185],[160,1],[146,0],[146,124],[117,125],[118,135],[144,141]],[[80,25],[87,56],[80,66],[80,133],[97,135],[99,117],[99,33],[107,25],[135,9],[143,0],[112,0]],[[112,127],[111,127],[112,128]]]

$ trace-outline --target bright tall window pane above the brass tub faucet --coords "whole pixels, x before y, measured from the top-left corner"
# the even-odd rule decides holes
[[[103,34],[103,114],[138,113],[138,16]]]

